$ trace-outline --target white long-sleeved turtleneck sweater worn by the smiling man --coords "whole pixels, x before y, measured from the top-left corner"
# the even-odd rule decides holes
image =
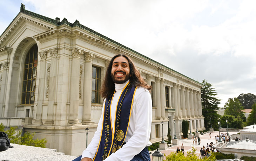
[[[128,82],[129,80],[127,80],[127,82],[123,84],[115,83],[116,92],[113,96],[111,104],[111,120],[113,132],[115,129],[115,112],[117,101],[121,95],[123,88]],[[105,100],[103,103],[102,113],[98,123],[97,131],[95,132],[94,137],[86,150],[83,151],[82,159],[85,157],[93,159],[96,154],[101,136]],[[152,102],[150,93],[145,88],[138,87],[135,91],[130,123],[127,131],[127,136],[124,140],[126,144],[123,145],[123,147],[115,153],[109,155],[108,158],[105,159],[105,161],[130,161],[135,155],[139,154],[143,150],[143,148],[146,147],[146,145],[151,145],[151,142],[149,141],[151,122]]]

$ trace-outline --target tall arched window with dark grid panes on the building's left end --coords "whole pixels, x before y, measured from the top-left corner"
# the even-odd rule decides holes
[[[35,44],[25,59],[21,104],[34,104],[38,47]]]

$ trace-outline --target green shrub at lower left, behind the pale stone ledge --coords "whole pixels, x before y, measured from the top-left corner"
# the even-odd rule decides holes
[[[0,131],[4,131],[4,127],[5,126],[1,123],[0,124]],[[7,133],[11,143],[45,148],[45,144],[47,143],[47,140],[45,138],[41,139],[41,140],[36,138],[35,140],[33,140],[35,133],[26,132],[22,136],[21,135],[21,133],[22,133],[21,130],[19,130],[18,134],[15,135],[15,133],[16,133],[15,129],[16,128],[18,128],[18,127],[17,126],[16,127],[10,127],[9,130],[4,131],[4,132]]]

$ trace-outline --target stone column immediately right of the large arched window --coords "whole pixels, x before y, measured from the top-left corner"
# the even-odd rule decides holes
[[[40,60],[40,73],[39,73],[39,88],[38,88],[38,105],[36,109],[36,119],[34,125],[42,125],[42,110],[43,110],[43,96],[45,95],[45,69],[47,52],[39,52]]]

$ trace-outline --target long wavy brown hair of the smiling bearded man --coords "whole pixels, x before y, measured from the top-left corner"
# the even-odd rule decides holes
[[[129,78],[130,82],[132,84],[134,84],[136,87],[144,87],[147,90],[151,90],[151,85],[148,85],[144,81],[144,79],[140,75],[140,72],[136,69],[132,60],[127,55],[117,54],[110,60],[110,62],[108,64],[106,74],[105,74],[105,77],[103,80],[102,89],[101,89],[101,96],[103,98],[110,97],[110,94],[112,94],[113,91],[115,90],[115,83],[114,83],[113,79],[111,78],[111,70],[112,70],[112,64],[113,64],[114,59],[119,56],[125,57],[129,63],[130,75],[131,75]]]

